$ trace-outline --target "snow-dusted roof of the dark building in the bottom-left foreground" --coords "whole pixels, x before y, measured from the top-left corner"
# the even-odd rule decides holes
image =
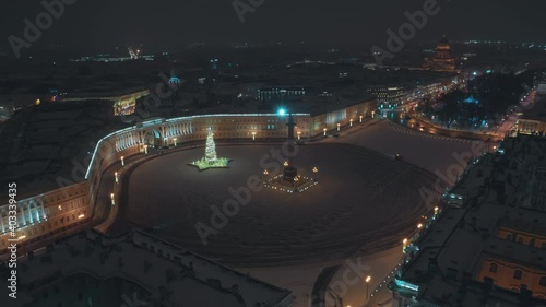
[[[288,290],[239,273],[140,229],[116,238],[91,231],[82,233],[61,240],[50,251],[37,252],[32,260],[21,259],[19,265],[26,269],[17,274],[17,299],[10,305],[13,307],[33,300],[33,293],[25,285],[48,287],[81,273],[98,281],[121,279],[134,283],[152,297],[162,297],[161,306],[288,306],[294,300]]]

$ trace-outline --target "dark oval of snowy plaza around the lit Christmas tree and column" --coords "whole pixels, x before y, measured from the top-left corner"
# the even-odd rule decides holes
[[[126,221],[226,263],[278,265],[321,262],[370,253],[397,244],[423,214],[418,189],[430,174],[349,144],[299,147],[296,165],[320,184],[304,193],[262,189],[250,196],[226,226],[203,245],[197,223],[213,226],[213,210],[234,197],[229,188],[260,176],[260,161],[280,145],[218,146],[233,158],[228,169],[199,172],[186,165],[202,149],[175,152],[139,166],[131,175]],[[264,160],[268,163],[273,158]],[[263,176],[263,175],[262,175]],[[222,219],[213,219],[222,222]]]

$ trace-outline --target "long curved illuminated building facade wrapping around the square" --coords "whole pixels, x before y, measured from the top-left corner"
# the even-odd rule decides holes
[[[339,127],[370,118],[376,107],[376,101],[371,99],[316,116],[294,114],[295,132],[298,138],[309,139],[324,133],[324,129],[336,131]],[[58,189],[17,200],[15,211],[9,204],[0,206],[0,260],[9,257],[8,247],[13,241],[17,243],[19,252],[24,253],[88,226],[96,212],[103,174],[122,157],[145,154],[150,146],[204,141],[209,128],[216,140],[283,140],[287,137],[286,120],[277,114],[198,115],[152,119],[112,132],[98,141],[87,168],[81,169],[85,172],[85,180],[63,185],[70,180],[58,179]],[[15,214],[16,219],[10,220]]]

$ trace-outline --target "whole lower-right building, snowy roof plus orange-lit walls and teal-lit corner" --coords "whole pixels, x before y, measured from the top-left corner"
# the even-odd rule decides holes
[[[470,164],[446,194],[462,205],[446,204],[412,243],[394,306],[546,306],[545,199],[531,201],[545,147],[521,135]]]

